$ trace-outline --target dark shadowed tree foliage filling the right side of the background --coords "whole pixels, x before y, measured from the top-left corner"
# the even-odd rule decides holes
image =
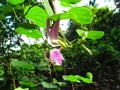
[[[68,67],[72,67],[70,71],[73,71],[73,73],[78,72],[84,74],[84,71],[92,72],[93,75],[95,75],[94,81],[97,83],[96,86],[99,89],[118,89],[117,86],[119,86],[120,83],[120,52],[118,45],[120,41],[119,12],[109,10],[108,7],[93,7],[92,12],[94,14],[94,19],[91,24],[79,25],[71,21],[70,32],[68,32],[66,36],[69,40],[73,40],[79,37],[75,32],[76,29],[81,28],[88,30],[88,28],[92,28],[94,30],[104,31],[104,37],[97,41],[91,41],[89,39],[88,42],[85,43],[93,52],[92,56],[86,55],[79,43],[74,44],[74,49],[72,48],[72,50],[70,49],[68,52],[65,51],[64,53],[66,58],[70,59],[69,62],[65,64],[68,65]],[[69,35],[74,36],[69,37]],[[72,62],[73,60],[74,62]]]

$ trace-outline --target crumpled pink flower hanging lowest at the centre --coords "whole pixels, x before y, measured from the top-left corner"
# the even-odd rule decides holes
[[[56,65],[61,65],[64,57],[59,49],[52,49],[50,50],[50,59],[51,61],[54,61]]]

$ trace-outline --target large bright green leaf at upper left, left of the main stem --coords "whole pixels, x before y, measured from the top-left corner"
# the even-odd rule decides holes
[[[48,18],[48,14],[44,11],[44,9],[34,6],[30,10],[30,7],[27,6],[24,9],[24,13],[27,13],[25,17],[32,21],[34,24],[38,25],[39,27],[46,27],[46,20]],[[29,10],[29,11],[28,11]],[[28,11],[28,12],[27,12]]]

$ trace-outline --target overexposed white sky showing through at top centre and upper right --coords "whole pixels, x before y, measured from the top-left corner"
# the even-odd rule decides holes
[[[98,4],[98,8],[99,7],[104,7],[104,6],[108,6],[110,7],[110,9],[114,9],[115,8],[115,4],[114,4],[114,0],[96,0],[96,4]],[[57,13],[62,13],[63,10],[66,11],[69,8],[64,8],[60,5],[60,1],[59,0],[55,0],[55,7],[56,7],[56,12]],[[89,0],[81,0],[80,3],[77,4],[78,6],[84,6],[84,5],[89,5]],[[68,23],[66,20],[61,20],[60,22],[60,27],[62,28],[62,30],[66,30],[68,28]]]

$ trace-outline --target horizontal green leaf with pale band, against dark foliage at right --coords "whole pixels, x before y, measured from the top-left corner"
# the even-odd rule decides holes
[[[79,36],[84,37],[84,38],[89,38],[89,39],[100,39],[103,37],[104,32],[103,31],[84,31],[84,30],[76,30],[76,32],[78,33]]]

